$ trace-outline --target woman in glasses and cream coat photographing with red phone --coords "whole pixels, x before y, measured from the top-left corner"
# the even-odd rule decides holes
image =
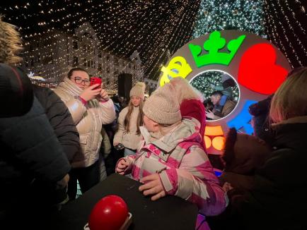
[[[76,198],[76,181],[82,193],[100,181],[99,150],[102,142],[101,128],[115,119],[114,104],[100,85],[91,85],[88,73],[82,68],[72,68],[63,83],[54,92],[68,107],[80,135],[81,152],[71,166],[69,198]]]

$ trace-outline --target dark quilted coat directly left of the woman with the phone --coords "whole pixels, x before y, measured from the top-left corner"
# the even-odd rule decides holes
[[[69,162],[74,161],[74,156],[80,151],[79,133],[62,99],[52,90],[45,87],[33,85],[35,97],[40,101],[49,122],[54,129],[55,135]]]

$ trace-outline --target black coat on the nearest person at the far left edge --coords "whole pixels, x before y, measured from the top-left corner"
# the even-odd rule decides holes
[[[48,191],[55,190],[56,182],[70,170],[62,146],[36,98],[27,114],[0,119],[0,149],[0,214],[30,202],[33,182],[40,181]],[[50,199],[44,195],[46,200]]]

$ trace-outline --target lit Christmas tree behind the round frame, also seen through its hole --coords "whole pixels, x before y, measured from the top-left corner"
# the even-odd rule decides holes
[[[262,18],[262,0],[202,0],[192,37],[214,30],[243,30],[265,37]],[[217,71],[202,73],[191,85],[207,99],[215,91],[210,85],[221,84],[221,75],[223,73]],[[233,87],[233,99],[238,100],[238,96],[238,87]]]

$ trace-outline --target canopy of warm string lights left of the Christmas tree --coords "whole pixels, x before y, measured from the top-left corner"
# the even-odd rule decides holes
[[[74,29],[88,21],[100,40],[99,50],[126,59],[137,50],[146,77],[153,79],[158,78],[159,67],[168,54],[173,54],[190,40],[199,2],[37,1],[16,6],[8,4],[0,6],[0,10],[4,12],[4,20],[18,25],[26,45],[40,42],[42,36],[44,42],[49,42],[50,52],[40,54],[40,59],[54,58],[55,49],[52,47],[66,42],[58,40],[57,44],[53,44],[50,42],[54,40],[52,33],[61,30],[72,36]],[[62,63],[68,59],[67,55],[52,61]],[[97,55],[89,52],[85,58]],[[38,64],[43,67],[42,63]],[[52,71],[57,75],[66,72],[64,69]]]

